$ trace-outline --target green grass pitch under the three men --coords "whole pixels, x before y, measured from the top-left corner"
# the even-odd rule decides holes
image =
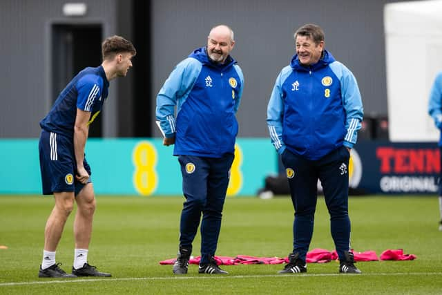
[[[112,278],[37,278],[51,197],[0,196],[0,294],[442,294],[442,232],[436,197],[351,197],[355,251],[404,249],[412,261],[357,263],[362,275],[338,274],[338,263],[308,265],[307,274],[278,275],[283,265],[223,266],[227,276],[174,276],[182,197],[98,196],[88,260]],[[74,214],[75,212],[73,212]],[[73,214],[57,262],[73,264]],[[289,198],[227,198],[217,255],[279,256],[291,251]],[[334,249],[324,199],[318,199],[310,249]],[[199,255],[200,234],[193,244]]]

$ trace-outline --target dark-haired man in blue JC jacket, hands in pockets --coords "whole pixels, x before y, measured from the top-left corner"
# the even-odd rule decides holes
[[[363,106],[352,72],[325,50],[323,30],[296,30],[296,55],[276,78],[267,106],[271,142],[281,155],[295,209],[293,251],[280,273],[307,272],[317,183],[323,186],[341,273],[360,274],[350,251],[348,164]]]

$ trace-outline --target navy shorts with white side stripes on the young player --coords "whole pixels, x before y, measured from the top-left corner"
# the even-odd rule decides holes
[[[54,192],[75,191],[75,196],[84,184],[75,180],[77,163],[75,162],[73,139],[58,133],[41,131],[39,140],[41,185],[44,195]],[[84,158],[84,168],[90,175],[90,166]],[[89,178],[88,183],[91,180]]]

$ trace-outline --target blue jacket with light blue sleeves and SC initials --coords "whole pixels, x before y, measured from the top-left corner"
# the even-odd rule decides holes
[[[175,137],[173,154],[221,158],[233,153],[243,85],[236,61],[229,56],[215,64],[205,47],[177,64],[157,95],[156,108],[163,135]]]

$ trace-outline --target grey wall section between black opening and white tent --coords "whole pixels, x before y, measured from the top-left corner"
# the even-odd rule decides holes
[[[153,1],[153,93],[175,64],[206,45],[210,28],[225,23],[235,32],[231,55],[245,77],[238,111],[240,136],[267,137],[267,102],[276,76],[294,55],[294,30],[317,23],[326,48],[356,76],[365,114],[386,115],[385,0],[158,0]],[[155,103],[153,101],[153,103]],[[159,135],[158,131],[155,134]]]

